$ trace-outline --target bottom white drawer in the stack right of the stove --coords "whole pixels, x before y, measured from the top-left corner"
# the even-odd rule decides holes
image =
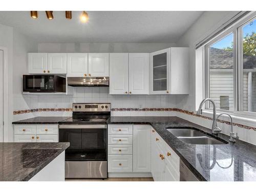
[[[109,155],[108,172],[133,172],[133,156]]]

